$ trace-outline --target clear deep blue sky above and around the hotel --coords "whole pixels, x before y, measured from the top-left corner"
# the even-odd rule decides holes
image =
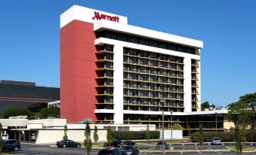
[[[227,105],[256,92],[254,0],[1,0],[0,79],[60,87],[60,14],[72,5],[204,41],[202,102]]]

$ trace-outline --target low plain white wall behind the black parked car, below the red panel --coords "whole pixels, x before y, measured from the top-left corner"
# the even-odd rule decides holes
[[[91,130],[91,141],[94,142],[93,133],[94,131]],[[99,141],[106,141],[106,130],[98,130],[97,134],[99,135]],[[63,130],[39,130],[35,143],[56,143],[56,141],[63,139],[63,135]],[[85,139],[85,130],[68,130],[67,135],[73,141],[83,142]]]

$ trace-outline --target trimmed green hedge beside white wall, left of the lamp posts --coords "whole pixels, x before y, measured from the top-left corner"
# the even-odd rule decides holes
[[[159,138],[159,131],[150,131],[150,138]],[[121,140],[147,139],[146,131],[113,131],[113,137]]]

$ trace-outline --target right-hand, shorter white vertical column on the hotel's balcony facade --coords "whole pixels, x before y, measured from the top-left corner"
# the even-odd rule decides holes
[[[191,58],[184,58],[184,112],[192,111]]]

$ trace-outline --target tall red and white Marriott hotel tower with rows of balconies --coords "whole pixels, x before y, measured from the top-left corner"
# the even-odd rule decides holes
[[[60,117],[69,123],[162,123],[200,111],[202,41],[72,6],[60,16]]]

